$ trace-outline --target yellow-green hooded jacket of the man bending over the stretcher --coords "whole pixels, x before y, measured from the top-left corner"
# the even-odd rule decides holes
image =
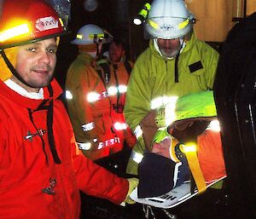
[[[156,130],[166,126],[166,114],[163,112],[166,112],[167,103],[172,101],[173,97],[212,89],[217,65],[218,52],[207,43],[196,39],[193,32],[179,55],[179,74],[178,80],[175,80],[175,59],[163,59],[150,40],[149,48],[137,58],[128,84],[125,119],[131,130],[136,130],[140,125],[144,138],[149,130],[152,135],[146,136],[146,141],[151,142]],[[156,122],[161,121],[160,124],[154,121],[154,115]],[[144,122],[144,118],[149,120],[150,124]],[[131,156],[137,153],[142,155],[145,148],[150,149],[150,144],[145,146],[143,137],[137,139]],[[132,159],[128,163],[127,172],[137,174],[137,163]]]

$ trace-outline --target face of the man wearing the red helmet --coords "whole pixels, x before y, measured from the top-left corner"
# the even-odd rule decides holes
[[[55,38],[19,46],[15,69],[29,86],[15,76],[12,80],[29,92],[38,92],[47,86],[53,78],[56,50]]]

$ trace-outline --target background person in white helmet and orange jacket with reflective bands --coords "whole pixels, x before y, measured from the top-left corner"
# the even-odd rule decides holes
[[[121,151],[128,128],[115,97],[124,92],[122,84],[112,75],[108,61],[100,58],[102,43],[108,42],[101,27],[81,27],[72,41],[78,45],[79,55],[67,72],[67,108],[76,141],[84,155],[93,160]],[[130,137],[134,145],[136,138]]]

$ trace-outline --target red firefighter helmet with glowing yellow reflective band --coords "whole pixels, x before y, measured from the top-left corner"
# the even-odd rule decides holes
[[[44,0],[4,0],[0,19],[0,49],[66,33],[55,10]]]

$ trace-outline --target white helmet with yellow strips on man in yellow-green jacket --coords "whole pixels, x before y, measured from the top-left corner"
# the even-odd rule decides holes
[[[183,37],[195,21],[183,0],[154,0],[145,22],[150,37],[172,39]]]

